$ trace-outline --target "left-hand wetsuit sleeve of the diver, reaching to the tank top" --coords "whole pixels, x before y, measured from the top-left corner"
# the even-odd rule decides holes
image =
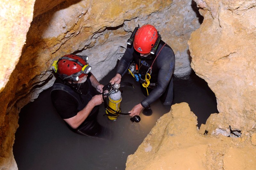
[[[117,71],[116,71],[116,73],[121,74],[122,77],[124,73],[127,72],[128,67],[130,66],[130,63],[132,62],[132,59],[133,59],[132,53],[133,53],[133,47],[129,47],[127,45],[124,55],[118,63]]]

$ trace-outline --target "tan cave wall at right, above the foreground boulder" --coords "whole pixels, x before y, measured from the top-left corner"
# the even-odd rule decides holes
[[[211,134],[249,135],[256,125],[256,1],[196,0],[204,21],[188,41],[191,66],[215,93]]]

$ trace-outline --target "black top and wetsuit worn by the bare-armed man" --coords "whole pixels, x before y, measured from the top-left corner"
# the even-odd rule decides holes
[[[87,80],[81,84],[70,84],[57,78],[51,91],[52,103],[62,119],[76,116],[95,95],[89,74]],[[72,131],[80,135],[93,136],[99,134],[101,126],[97,122],[98,112],[99,106],[95,106],[84,122],[76,129],[67,125]]]

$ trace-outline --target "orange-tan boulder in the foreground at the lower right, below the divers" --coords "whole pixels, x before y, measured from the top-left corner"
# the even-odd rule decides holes
[[[129,155],[129,169],[255,169],[256,148],[249,139],[201,135],[187,103],[174,104]]]

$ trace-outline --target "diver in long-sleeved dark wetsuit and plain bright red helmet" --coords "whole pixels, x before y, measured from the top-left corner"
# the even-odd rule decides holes
[[[172,104],[172,74],[175,66],[172,48],[161,40],[154,26],[136,27],[133,34],[133,46],[127,45],[124,56],[118,64],[116,76],[110,80],[111,84],[120,83],[130,63],[134,61],[137,64],[138,73],[135,77],[140,77],[138,81],[141,82],[142,92],[147,97],[132,108],[129,112],[130,116],[139,115],[143,108],[149,109],[150,104],[158,98],[164,105]],[[130,39],[133,37],[131,36]]]

